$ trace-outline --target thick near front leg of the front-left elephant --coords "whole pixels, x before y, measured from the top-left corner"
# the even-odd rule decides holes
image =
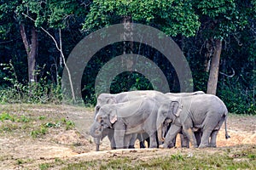
[[[115,122],[113,125],[114,133],[113,138],[116,144],[116,149],[123,149],[125,139],[125,124],[123,122]]]

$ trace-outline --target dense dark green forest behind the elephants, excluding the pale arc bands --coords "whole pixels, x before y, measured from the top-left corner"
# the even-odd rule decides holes
[[[61,76],[73,48],[91,32],[120,23],[152,26],[172,37],[189,62],[194,90],[216,94],[230,112],[256,114],[255,0],[0,0],[0,103],[61,103]],[[165,56],[140,42],[116,42],[84,69],[84,104],[95,105],[102,66],[140,54],[164,72],[172,92],[177,74]],[[153,89],[136,71],[115,77],[111,93]]]

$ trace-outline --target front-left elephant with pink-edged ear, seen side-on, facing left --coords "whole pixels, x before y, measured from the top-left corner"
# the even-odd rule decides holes
[[[101,137],[105,128],[113,128],[116,148],[127,148],[125,135],[148,133],[150,148],[157,147],[156,118],[160,102],[154,98],[144,97],[125,103],[102,105],[96,119],[90,127],[90,135]]]

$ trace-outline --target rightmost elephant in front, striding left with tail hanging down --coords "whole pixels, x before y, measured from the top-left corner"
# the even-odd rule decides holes
[[[166,100],[160,105],[158,111],[156,121],[158,139],[164,141],[164,148],[168,148],[177,133],[183,132],[192,146],[196,148],[198,144],[195,139],[195,132],[200,131],[202,136],[199,147],[216,147],[218,130],[223,123],[225,137],[226,139],[230,138],[226,125],[227,115],[228,110],[224,102],[212,94]],[[166,134],[166,138],[163,138],[162,128],[165,121],[171,122],[171,127]]]

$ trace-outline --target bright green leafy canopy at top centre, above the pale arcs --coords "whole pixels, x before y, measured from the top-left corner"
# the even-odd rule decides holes
[[[199,17],[189,0],[146,0],[124,1],[96,0],[90,6],[83,29],[95,30],[102,26],[121,23],[125,17],[133,22],[159,26],[167,35],[185,37],[195,36],[200,26]]]

